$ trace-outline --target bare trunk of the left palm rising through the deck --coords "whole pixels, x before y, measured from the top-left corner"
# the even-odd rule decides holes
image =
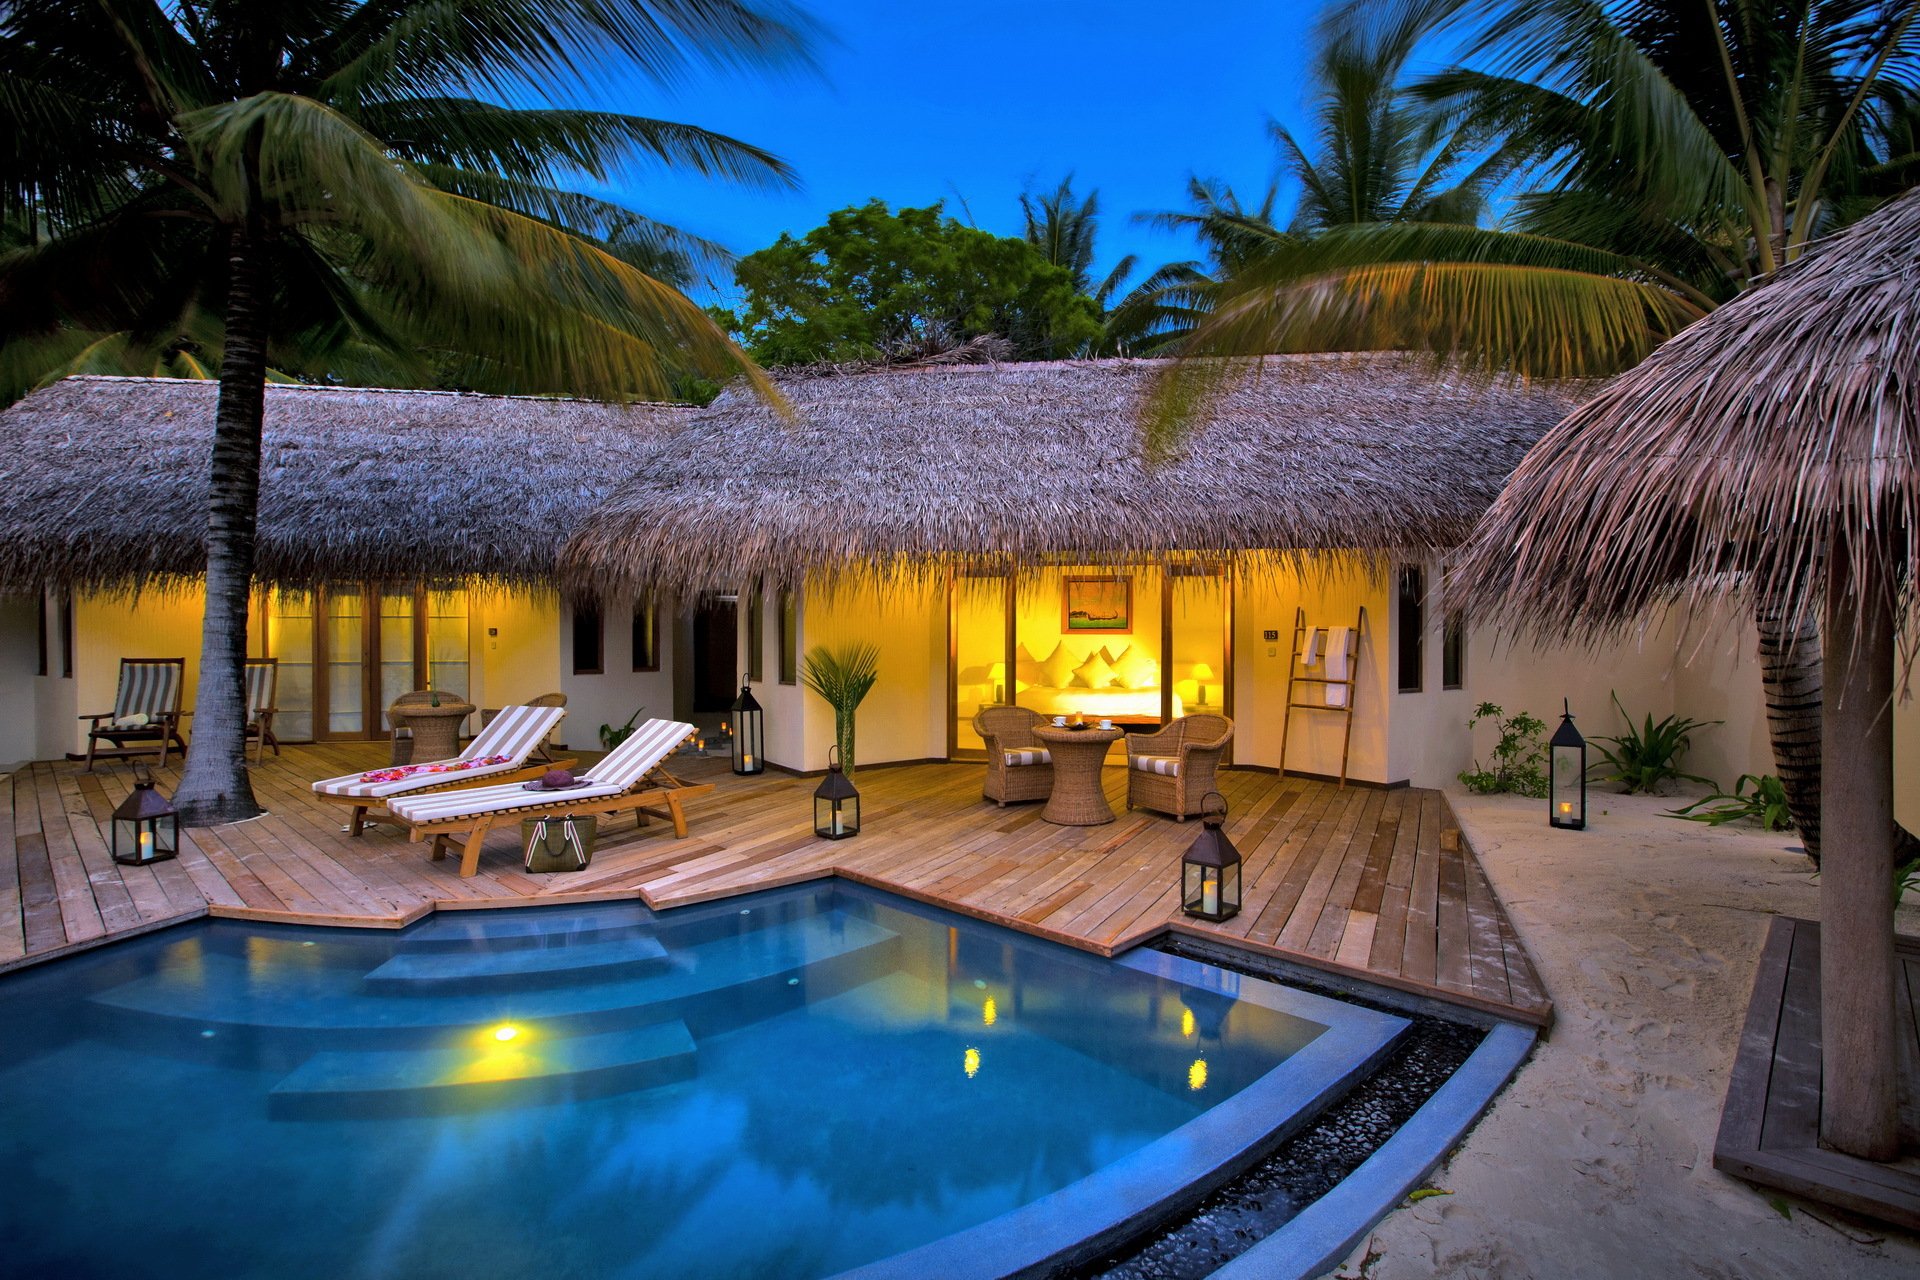
[[[259,516],[259,436],[267,415],[267,290],[261,236],[227,244],[227,349],[207,486],[207,606],[200,631],[194,748],[173,806],[190,827],[259,816],[246,775],[246,622]]]

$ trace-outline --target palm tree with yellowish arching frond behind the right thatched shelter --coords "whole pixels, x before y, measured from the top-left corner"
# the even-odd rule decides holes
[[[1503,226],[1371,223],[1221,286],[1188,349],[1405,345],[1530,376],[1636,365],[1920,173],[1920,2],[1352,0],[1327,38],[1457,38],[1411,86],[1530,186]],[[1753,601],[1776,768],[1820,848],[1820,635]]]

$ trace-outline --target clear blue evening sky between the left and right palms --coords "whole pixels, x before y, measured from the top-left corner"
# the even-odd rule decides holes
[[[783,230],[870,198],[947,200],[952,215],[1018,234],[1018,196],[1068,171],[1098,188],[1100,273],[1123,253],[1150,265],[1192,244],[1135,211],[1185,205],[1188,173],[1258,198],[1273,175],[1267,119],[1298,129],[1319,4],[1260,0],[816,0],[829,33],[820,75],[697,77],[641,84],[607,106],[684,119],[764,146],[801,192],[662,175],[616,192],[632,207],[753,251]],[[1283,188],[1283,209],[1288,194]]]

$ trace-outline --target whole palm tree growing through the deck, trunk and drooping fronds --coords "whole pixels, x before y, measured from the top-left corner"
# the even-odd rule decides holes
[[[753,376],[632,265],[672,232],[568,182],[647,161],[743,180],[785,167],[689,125],[486,98],[588,88],[607,65],[766,65],[803,44],[747,0],[0,10],[0,219],[25,228],[0,257],[0,340],[83,330],[163,351],[194,334],[219,372],[182,819],[259,812],[242,664],[269,363],[376,357],[609,397],[664,395],[682,370]]]

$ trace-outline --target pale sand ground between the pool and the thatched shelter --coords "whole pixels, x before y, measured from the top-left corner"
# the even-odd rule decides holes
[[[1448,796],[1553,996],[1551,1038],[1336,1276],[1920,1276],[1920,1238],[1713,1169],[1720,1102],[1768,915],[1818,917],[1791,835],[1594,796],[1584,833],[1544,802]],[[1920,908],[1899,927],[1920,933]]]

